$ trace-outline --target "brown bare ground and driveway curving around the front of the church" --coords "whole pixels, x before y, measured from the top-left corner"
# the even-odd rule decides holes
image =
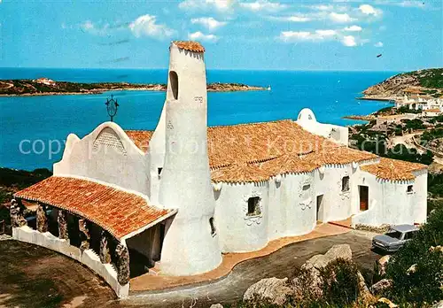
[[[0,307],[209,307],[235,303],[254,282],[273,276],[291,278],[308,258],[338,243],[349,243],[354,261],[371,270],[380,257],[369,249],[371,236],[352,231],[293,243],[237,265],[221,281],[167,292],[136,292],[123,301],[116,300],[104,281],[70,258],[27,243],[0,241]]]

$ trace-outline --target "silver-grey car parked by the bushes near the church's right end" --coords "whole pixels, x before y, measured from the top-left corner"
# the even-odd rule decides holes
[[[372,248],[395,252],[417,233],[418,227],[413,225],[392,226],[384,235],[376,235],[372,238]]]

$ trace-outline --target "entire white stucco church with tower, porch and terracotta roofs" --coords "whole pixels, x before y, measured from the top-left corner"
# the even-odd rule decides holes
[[[426,166],[351,149],[347,127],[319,123],[309,109],[207,127],[205,50],[169,50],[156,129],[105,122],[82,139],[68,135],[53,176],[14,195],[15,239],[77,259],[124,297],[139,260],[193,275],[219,266],[222,253],[260,250],[319,222],[425,221]],[[33,225],[22,211],[35,203]]]

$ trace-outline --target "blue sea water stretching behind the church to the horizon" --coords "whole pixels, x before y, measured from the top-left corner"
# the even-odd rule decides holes
[[[368,114],[387,106],[359,101],[361,91],[396,72],[301,72],[209,70],[208,82],[239,82],[271,86],[271,91],[208,93],[208,124],[296,119],[302,108],[311,108],[319,121],[352,125],[342,119]],[[166,70],[0,68],[0,79],[56,81],[166,83]],[[115,118],[124,129],[154,129],[165,100],[163,92],[120,91],[86,96],[0,96],[0,166],[33,170],[52,168],[61,158],[69,133],[89,134],[108,120],[106,98],[120,104]],[[19,148],[21,142],[21,150]],[[50,150],[51,146],[51,150]],[[34,149],[33,149],[34,147]],[[58,151],[57,151],[58,150]],[[52,154],[53,152],[56,152]],[[29,152],[29,153],[27,153]]]

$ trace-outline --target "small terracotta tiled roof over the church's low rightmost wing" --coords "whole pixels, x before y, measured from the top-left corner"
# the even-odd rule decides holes
[[[413,172],[426,168],[426,165],[391,158],[380,158],[377,164],[361,166],[361,170],[391,181],[414,180],[416,176]]]

